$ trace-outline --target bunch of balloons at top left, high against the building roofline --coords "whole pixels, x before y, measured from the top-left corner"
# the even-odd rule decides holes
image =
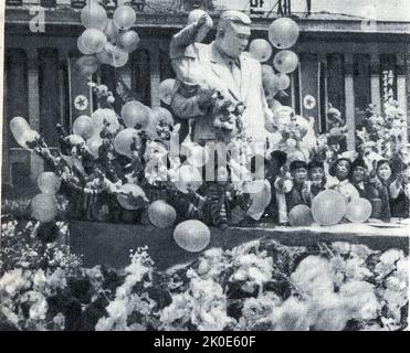
[[[97,0],[90,0],[81,11],[81,22],[85,31],[77,40],[77,47],[84,56],[77,62],[82,75],[94,74],[99,64],[122,67],[128,62],[129,53],[139,44],[139,35],[130,30],[136,22],[136,13],[129,6],[119,6],[113,19]]]

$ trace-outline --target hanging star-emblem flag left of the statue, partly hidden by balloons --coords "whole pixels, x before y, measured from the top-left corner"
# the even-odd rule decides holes
[[[93,113],[93,94],[88,85],[91,78],[78,73],[75,62],[76,57],[69,58],[70,127],[78,116],[91,117]]]

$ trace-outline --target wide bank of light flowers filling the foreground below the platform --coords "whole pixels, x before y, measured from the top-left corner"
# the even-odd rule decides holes
[[[82,267],[66,224],[2,224],[2,330],[386,330],[407,328],[402,250],[272,239],[211,248],[158,271],[146,248],[124,269]],[[43,232],[43,233],[42,233]]]

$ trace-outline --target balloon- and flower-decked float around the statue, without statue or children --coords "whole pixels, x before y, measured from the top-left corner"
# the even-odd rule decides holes
[[[81,19],[78,73],[87,77],[99,65],[124,66],[139,41],[132,30],[134,10],[122,6],[108,19],[92,2]],[[370,164],[382,158],[402,161],[406,122],[393,101],[386,101],[383,117],[369,110],[357,131],[357,152],[340,150],[341,124],[315,136],[312,121],[290,120],[292,108],[277,106],[274,96],[297,67],[297,55],[288,50],[297,38],[297,24],[282,18],[273,21],[270,42],[256,39],[249,47],[248,55],[262,63],[265,95],[276,105],[271,109],[278,111],[272,150],[294,160],[315,154],[327,165],[355,153]],[[273,47],[277,73],[266,64]],[[165,105],[174,84],[167,79],[159,87]],[[57,151],[24,118],[11,120],[18,143],[43,158],[46,171],[32,200],[3,201],[1,329],[407,327],[406,220],[376,222],[375,204],[340,201],[325,190],[312,207],[295,207],[288,225],[278,226],[264,212],[265,181],[248,168],[241,107],[213,97],[214,126],[238,153],[209,188],[201,168],[211,152],[189,137],[179,141],[169,109],[143,105],[120,75],[116,87],[91,79],[90,86],[98,108],[78,116],[70,131],[56,127]],[[115,99],[122,100],[119,111]],[[178,153],[171,148],[176,140]],[[286,168],[281,173],[291,180]],[[262,215],[257,222],[254,213]]]

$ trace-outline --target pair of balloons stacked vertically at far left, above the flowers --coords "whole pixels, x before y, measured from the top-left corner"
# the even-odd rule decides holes
[[[57,214],[55,195],[60,191],[61,180],[53,172],[43,172],[38,178],[38,186],[42,193],[31,200],[32,216],[42,223],[52,222]]]

